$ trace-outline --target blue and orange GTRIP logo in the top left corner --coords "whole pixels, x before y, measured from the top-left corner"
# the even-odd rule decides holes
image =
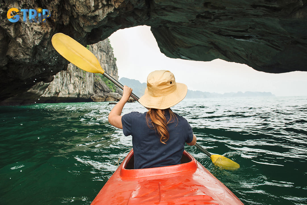
[[[17,8],[11,8],[7,11],[7,19],[12,22],[16,23],[19,21],[20,16],[19,14],[22,13],[23,22],[46,22],[46,18],[51,16],[51,11],[48,9],[21,9],[20,12]],[[29,15],[27,15],[29,14]],[[28,18],[27,18],[28,17]]]

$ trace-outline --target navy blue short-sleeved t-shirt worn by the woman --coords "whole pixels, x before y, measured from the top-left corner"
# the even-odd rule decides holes
[[[177,115],[167,124],[169,139],[163,144],[155,129],[146,124],[146,113],[130,112],[122,116],[122,132],[132,136],[134,169],[163,167],[180,164],[185,142],[193,140],[193,131],[188,121]],[[169,120],[169,112],[165,112]]]

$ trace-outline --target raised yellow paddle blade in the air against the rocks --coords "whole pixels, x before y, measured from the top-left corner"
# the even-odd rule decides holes
[[[95,55],[72,37],[57,33],[52,36],[51,42],[61,56],[82,70],[90,73],[104,73]]]

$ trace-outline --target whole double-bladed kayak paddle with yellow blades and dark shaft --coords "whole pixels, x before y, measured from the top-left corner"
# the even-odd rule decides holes
[[[62,33],[57,33],[53,35],[51,42],[56,51],[72,64],[90,73],[101,73],[119,88],[123,89],[124,86],[122,84],[120,84],[103,70],[95,55],[73,38]],[[138,101],[139,99],[139,97],[137,97],[133,93],[131,93],[131,97],[133,97],[136,101]],[[195,146],[199,148],[202,152],[204,152],[206,155],[208,155],[211,158],[212,163],[220,168],[235,170],[240,167],[238,163],[222,155],[211,155],[207,150],[202,148],[197,143],[195,144]]]

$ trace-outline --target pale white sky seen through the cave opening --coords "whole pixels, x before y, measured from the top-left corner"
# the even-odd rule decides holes
[[[307,72],[273,74],[220,59],[203,62],[169,58],[160,52],[149,26],[118,30],[109,39],[117,58],[119,79],[126,77],[144,83],[150,72],[169,70],[176,82],[185,83],[190,90],[307,96]]]

